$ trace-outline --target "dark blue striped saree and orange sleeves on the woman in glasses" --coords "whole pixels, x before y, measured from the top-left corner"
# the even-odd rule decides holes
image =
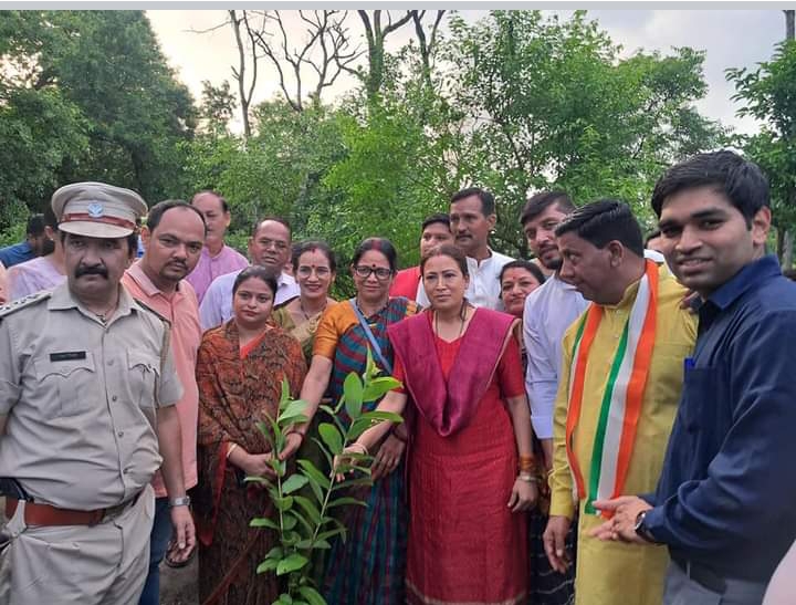
[[[387,326],[413,313],[415,309],[413,303],[404,298],[391,299],[385,309],[367,319],[383,355],[390,362],[392,348]],[[365,371],[369,343],[349,302],[339,303],[332,311],[352,316],[334,354],[328,393],[336,404],[348,373]],[[374,358],[377,359],[376,355]],[[367,408],[374,409],[376,405],[367,404]],[[342,420],[347,420],[345,414],[343,416]],[[404,604],[408,525],[404,462],[373,487],[352,490],[346,496],[364,500],[367,508],[352,505],[341,512],[341,521],[348,531],[345,543],[339,538],[332,543],[324,597],[334,605]]]

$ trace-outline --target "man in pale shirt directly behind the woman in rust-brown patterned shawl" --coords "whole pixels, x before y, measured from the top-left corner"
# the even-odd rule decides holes
[[[291,254],[291,227],[279,217],[259,221],[249,238],[249,257],[253,264],[273,269],[276,278],[274,306],[298,295],[295,280],[284,272]],[[242,269],[213,280],[199,306],[202,330],[221,325],[232,317],[232,284]]]

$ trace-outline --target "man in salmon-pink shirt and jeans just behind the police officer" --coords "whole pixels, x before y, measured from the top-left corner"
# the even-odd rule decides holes
[[[196,442],[199,417],[199,392],[195,371],[201,343],[199,304],[193,288],[185,279],[199,261],[205,244],[205,218],[190,204],[166,200],[149,210],[142,228],[144,255],[122,278],[133,296],[166,317],[171,324],[171,351],[177,375],[182,383],[182,397],[177,405],[182,436],[182,473],[185,487],[197,483]],[[160,474],[153,481],[155,489],[155,523],[149,543],[149,574],[142,593],[142,605],[159,603],[159,565],[166,555],[171,525],[169,501]],[[170,561],[179,564],[176,556]]]

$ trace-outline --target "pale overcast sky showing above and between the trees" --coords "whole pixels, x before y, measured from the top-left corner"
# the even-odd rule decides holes
[[[283,11],[289,33],[301,40],[303,30],[296,12]],[[474,21],[485,12],[461,11],[461,14]],[[570,14],[570,11],[557,12],[564,17]],[[399,14],[399,11],[394,11],[394,14]],[[753,121],[742,121],[735,116],[737,105],[730,98],[734,86],[726,82],[724,70],[741,66],[754,69],[756,63],[771,59],[774,45],[785,35],[782,10],[604,9],[590,10],[588,14],[599,22],[615,43],[624,46],[625,54],[632,54],[639,49],[667,53],[677,46],[706,51],[704,72],[709,92],[699,103],[699,108],[706,116],[734,126],[737,132],[755,131]],[[224,27],[201,34],[191,31],[207,30],[223,22],[226,11],[153,10],[147,11],[147,15],[171,66],[197,100],[200,97],[202,80],[210,80],[213,84],[230,80],[234,86],[230,67],[237,64],[238,54],[232,30]],[[348,17],[348,23],[352,32],[360,35],[362,28],[356,14]],[[397,48],[411,33],[412,29],[405,27],[392,39],[387,39],[391,42],[388,48]],[[362,44],[364,46],[364,39]],[[354,84],[352,79],[341,79],[335,92],[339,94]],[[262,63],[255,102],[273,96],[277,87],[276,72]]]

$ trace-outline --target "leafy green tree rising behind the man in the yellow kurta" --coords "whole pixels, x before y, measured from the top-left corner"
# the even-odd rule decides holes
[[[643,219],[663,167],[719,139],[693,107],[706,90],[703,53],[621,59],[583,11],[568,20],[493,11],[450,25],[444,56],[455,69],[446,88],[470,124],[459,171],[495,192],[495,241],[507,253],[524,251],[516,223],[528,190],[563,187],[578,202],[618,197]]]

